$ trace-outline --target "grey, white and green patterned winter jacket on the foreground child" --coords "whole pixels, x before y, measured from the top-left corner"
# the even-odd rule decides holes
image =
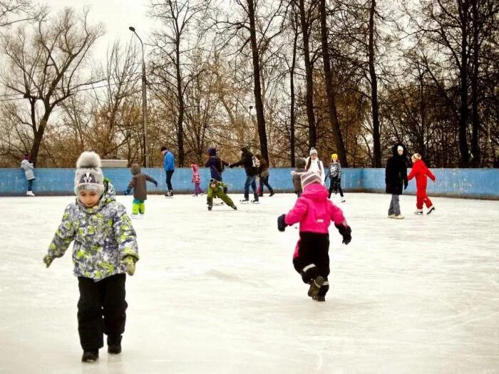
[[[135,230],[125,207],[115,200],[110,183],[95,207],[87,208],[78,199],[66,207],[48,256],[63,256],[73,240],[75,276],[100,281],[125,273],[125,265],[120,263],[125,256],[138,260]]]

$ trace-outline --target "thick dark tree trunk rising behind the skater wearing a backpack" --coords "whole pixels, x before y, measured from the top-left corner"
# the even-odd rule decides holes
[[[249,38],[251,41],[253,78],[254,78],[254,106],[257,110],[258,137],[260,140],[260,152],[262,157],[269,162],[269,150],[267,147],[267,130],[265,129],[265,116],[263,112],[262,85],[260,82],[260,63],[257,46],[257,32],[254,21],[254,1],[247,0],[249,16]],[[270,162],[269,162],[270,165]]]

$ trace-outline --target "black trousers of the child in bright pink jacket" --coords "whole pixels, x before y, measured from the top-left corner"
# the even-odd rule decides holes
[[[329,234],[300,232],[298,253],[293,259],[293,266],[302,275],[304,283],[310,284],[312,279],[323,276],[326,281],[319,290],[325,296],[329,290]]]

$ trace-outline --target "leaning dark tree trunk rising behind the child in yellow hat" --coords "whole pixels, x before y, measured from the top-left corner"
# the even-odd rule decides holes
[[[326,94],[328,103],[329,123],[336,145],[339,162],[343,167],[348,167],[346,160],[345,145],[339,128],[338,113],[336,111],[336,98],[333,88],[333,77],[331,73],[331,61],[329,60],[329,47],[327,43],[327,24],[326,24],[326,0],[320,0],[321,11],[321,44],[322,44],[322,59],[324,61],[324,79],[326,84]]]

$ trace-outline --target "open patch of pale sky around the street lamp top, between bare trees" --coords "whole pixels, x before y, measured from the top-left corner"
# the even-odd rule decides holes
[[[41,1],[43,3],[43,1]],[[144,43],[148,40],[148,33],[153,28],[153,20],[146,16],[150,0],[48,0],[46,4],[53,11],[71,6],[81,10],[83,6],[90,6],[90,19],[93,23],[102,22],[106,27],[104,35],[93,49],[93,56],[104,58],[108,45],[115,39],[124,43],[130,41],[133,33],[128,26],[134,26]],[[135,40],[136,37],[134,36]],[[146,47],[147,48],[147,47]]]

